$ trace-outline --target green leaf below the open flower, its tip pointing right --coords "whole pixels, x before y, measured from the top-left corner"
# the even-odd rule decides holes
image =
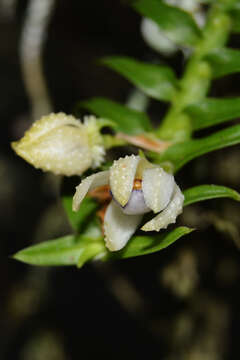
[[[108,257],[113,259],[126,259],[152,254],[165,249],[176,240],[180,239],[180,237],[187,235],[192,231],[193,229],[182,226],[158,235],[134,236],[122,250],[109,253]]]

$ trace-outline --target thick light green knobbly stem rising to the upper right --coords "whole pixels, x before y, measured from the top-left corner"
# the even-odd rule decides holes
[[[184,113],[184,108],[206,96],[211,84],[212,72],[204,58],[209,51],[225,45],[230,33],[230,25],[230,17],[224,12],[221,4],[213,5],[209,10],[202,38],[196,44],[180,80],[179,90],[171,101],[166,117],[156,131],[161,139],[178,142],[191,138],[191,118]]]

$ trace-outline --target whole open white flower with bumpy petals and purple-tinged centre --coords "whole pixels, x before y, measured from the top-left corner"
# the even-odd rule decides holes
[[[143,214],[158,214],[142,226],[143,231],[159,231],[176,221],[182,212],[184,196],[173,175],[140,156],[114,161],[110,170],[85,178],[73,197],[73,210],[100,186],[109,185],[112,201],[104,217],[104,238],[111,251],[122,249],[139,226]]]

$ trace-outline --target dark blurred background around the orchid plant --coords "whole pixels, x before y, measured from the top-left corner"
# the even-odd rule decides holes
[[[9,145],[39,111],[26,80],[36,69],[23,64],[26,51],[20,56],[30,5],[0,0],[0,359],[238,359],[240,206],[231,200],[187,207],[180,222],[198,231],[154,255],[81,270],[31,267],[10,258],[70,231],[57,196],[60,179],[34,169]],[[41,56],[49,103],[43,107],[72,113],[91,96],[125,102],[131,85],[97,65],[105,55],[160,59],[181,74],[181,53],[164,58],[147,47],[141,19],[126,0],[58,0],[48,16]],[[230,45],[240,47],[240,37],[231,37]],[[32,89],[37,99],[38,80]],[[218,80],[211,94],[237,96],[239,80]],[[166,105],[151,102],[152,119],[165,111]],[[239,147],[209,154],[177,180],[182,188],[216,183],[240,190],[239,156]]]

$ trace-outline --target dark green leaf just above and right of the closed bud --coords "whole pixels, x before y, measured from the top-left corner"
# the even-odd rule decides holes
[[[152,130],[146,114],[129,109],[115,101],[98,97],[81,101],[80,106],[98,116],[112,120],[116,124],[117,131],[135,135]]]

